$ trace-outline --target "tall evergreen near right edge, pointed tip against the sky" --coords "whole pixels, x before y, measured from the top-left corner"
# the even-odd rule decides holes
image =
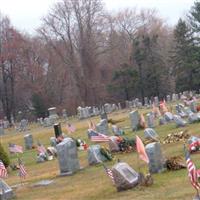
[[[179,19],[174,30],[175,47],[173,51],[174,74],[176,77],[176,90],[197,89],[198,62],[196,60],[196,50],[191,29],[186,22]]]

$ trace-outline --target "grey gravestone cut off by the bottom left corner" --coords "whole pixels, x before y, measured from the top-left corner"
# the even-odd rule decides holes
[[[0,200],[9,200],[13,196],[12,188],[3,179],[0,179]]]

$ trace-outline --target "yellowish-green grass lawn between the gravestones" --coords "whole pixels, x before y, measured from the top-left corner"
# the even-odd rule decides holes
[[[140,110],[146,113],[147,110]],[[114,120],[123,119],[118,125],[121,127],[130,127],[129,111],[123,110],[109,115]],[[99,118],[93,118],[94,122],[98,122]],[[87,120],[73,119],[71,122],[76,126],[77,130],[72,135],[74,138],[81,138],[92,144],[87,138]],[[64,124],[63,132],[66,133]],[[200,123],[187,125],[185,128],[176,128],[174,123],[163,126],[156,126],[155,130],[162,140],[169,133],[178,132],[187,129],[191,135],[200,135]],[[143,137],[143,130],[132,132],[131,129],[125,129],[128,137],[134,137],[135,134]],[[8,143],[16,143],[24,145],[23,133],[15,133],[13,130],[6,130],[6,135],[1,138],[1,142],[8,149]],[[54,136],[53,128],[40,128],[31,125],[30,131],[34,141],[39,140],[46,147],[50,146],[50,137]],[[105,144],[104,144],[105,145]],[[183,142],[162,145],[163,153],[166,157],[183,155]],[[117,192],[112,185],[111,180],[106,176],[101,165],[89,166],[87,162],[87,152],[78,152],[80,165],[83,170],[77,172],[73,176],[59,177],[59,166],[57,159],[45,163],[36,163],[36,150],[25,151],[22,159],[28,171],[28,177],[24,181],[24,185],[15,189],[15,199],[19,200],[190,200],[195,195],[195,190],[191,186],[187,170],[166,171],[161,174],[154,174],[154,184],[150,187],[136,187],[124,192]],[[138,160],[135,152],[133,153],[117,153],[115,158],[127,162],[136,171],[138,169]],[[115,159],[115,160],[116,160]],[[200,154],[192,155],[197,168],[200,168]],[[11,156],[12,162],[16,160],[15,156]],[[107,166],[112,166],[116,161],[107,162]],[[142,171],[147,171],[147,165],[140,161]],[[54,183],[49,186],[33,187],[32,185],[39,180],[51,179]],[[9,171],[9,177],[6,179],[9,185],[20,183],[16,171]]]

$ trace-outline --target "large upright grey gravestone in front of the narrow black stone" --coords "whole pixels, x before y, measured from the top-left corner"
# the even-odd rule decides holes
[[[60,175],[71,175],[80,169],[76,142],[71,138],[65,138],[56,145]]]

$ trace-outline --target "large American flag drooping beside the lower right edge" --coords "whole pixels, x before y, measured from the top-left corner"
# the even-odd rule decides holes
[[[198,182],[198,173],[194,163],[190,159],[190,153],[188,151],[186,152],[186,150],[185,150],[185,160],[187,164],[188,176],[190,178],[190,182],[196,190],[199,190],[200,183]]]

